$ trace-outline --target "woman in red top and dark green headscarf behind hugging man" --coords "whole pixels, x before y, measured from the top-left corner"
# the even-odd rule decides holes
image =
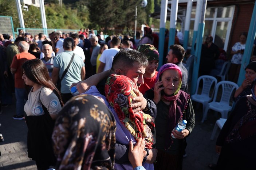
[[[153,88],[157,78],[157,67],[159,62],[159,53],[157,49],[151,44],[142,44],[138,46],[139,52],[143,53],[147,57],[148,65],[143,74],[144,84],[139,87],[139,91],[144,95],[147,90]]]

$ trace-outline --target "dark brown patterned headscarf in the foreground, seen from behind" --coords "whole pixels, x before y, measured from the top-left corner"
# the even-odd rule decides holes
[[[69,100],[52,133],[56,169],[113,169],[115,129],[113,114],[96,96]]]

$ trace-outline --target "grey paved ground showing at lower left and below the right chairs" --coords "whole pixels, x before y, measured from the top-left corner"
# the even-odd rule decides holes
[[[196,126],[187,138],[187,157],[184,158],[184,170],[208,170],[208,164],[217,162],[215,153],[215,140],[210,140],[212,129],[218,115],[208,113],[208,120],[203,124],[201,106],[196,109]],[[27,125],[24,120],[13,120],[15,104],[3,108],[0,115],[0,131],[4,136],[4,142],[0,143],[0,170],[34,170],[35,162],[28,158],[27,153]],[[218,132],[217,132],[218,134]],[[217,135],[216,134],[216,135]]]

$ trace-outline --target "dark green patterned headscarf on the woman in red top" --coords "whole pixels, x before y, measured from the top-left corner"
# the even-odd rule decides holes
[[[158,50],[151,44],[142,44],[138,46],[137,50],[146,55],[148,61],[159,61]]]

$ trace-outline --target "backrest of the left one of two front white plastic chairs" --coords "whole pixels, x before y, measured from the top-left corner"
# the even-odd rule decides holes
[[[197,79],[197,86],[196,86],[196,93],[195,94],[198,94],[198,87],[199,87],[199,83],[200,83],[201,80],[203,81],[203,87],[202,87],[201,95],[206,95],[206,96],[209,97],[211,87],[212,87],[213,83],[214,83],[213,87],[216,86],[217,79],[213,76],[210,76],[210,75],[200,76]]]

